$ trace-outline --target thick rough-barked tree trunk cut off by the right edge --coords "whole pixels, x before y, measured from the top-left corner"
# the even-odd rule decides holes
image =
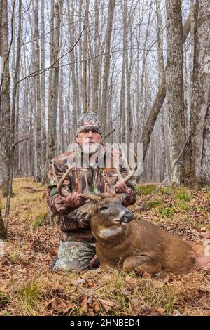
[[[190,140],[186,147],[185,183],[191,187],[210,184],[210,8],[200,0],[194,11],[193,88]]]

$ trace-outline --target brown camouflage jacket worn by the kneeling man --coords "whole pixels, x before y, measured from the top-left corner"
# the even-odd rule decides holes
[[[83,193],[88,183],[92,193],[102,193],[110,192],[109,183],[115,185],[116,182],[120,180],[118,171],[113,164],[113,156],[116,157],[116,155],[118,157],[118,164],[120,165],[120,154],[110,150],[105,151],[104,149],[103,152],[99,154],[99,157],[97,157],[92,167],[85,167],[84,155],[80,148],[65,152],[52,159],[52,161],[58,181],[62,178],[63,173],[69,169],[69,166],[75,163],[69,176],[64,180],[63,189],[68,190],[68,192]],[[52,173],[52,161],[50,163],[50,171],[48,172],[47,202],[52,213],[59,216],[61,239],[67,240],[70,232],[73,241],[94,242],[94,237],[90,230],[90,218],[88,215],[85,218],[80,218],[78,216],[83,206],[66,206],[65,198],[60,196],[57,192]],[[101,164],[105,164],[106,167],[99,167]],[[126,169],[123,169],[121,165],[118,168],[122,176],[127,174]],[[106,179],[104,179],[104,176]],[[131,181],[127,183],[125,196],[126,198],[123,201],[124,206],[129,206],[136,202],[136,190]],[[87,205],[87,200],[84,201],[83,204]]]

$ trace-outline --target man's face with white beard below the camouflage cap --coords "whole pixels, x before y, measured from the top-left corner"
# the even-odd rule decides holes
[[[85,154],[94,154],[99,149],[102,136],[94,131],[81,132],[78,133],[76,142],[83,148]]]

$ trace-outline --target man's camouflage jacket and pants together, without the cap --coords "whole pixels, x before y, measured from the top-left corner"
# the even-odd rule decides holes
[[[115,155],[116,156],[116,155]],[[120,154],[118,154],[120,159]],[[69,168],[69,163],[75,163],[69,176],[64,180],[62,189],[68,192],[83,193],[88,183],[90,191],[95,193],[110,192],[110,185],[113,186],[119,179],[118,171],[113,166],[113,150],[106,150],[104,147],[99,152],[96,166],[78,167],[76,161],[80,160],[80,164],[84,164],[83,152],[80,148],[65,152],[53,159],[55,166],[55,175],[59,181]],[[104,160],[106,167],[99,166],[100,159]],[[115,158],[116,159],[116,158]],[[119,169],[122,176],[127,175],[127,171],[123,168],[122,162],[119,161]],[[106,180],[104,180],[104,176]],[[110,185],[107,183],[109,181]],[[136,202],[136,191],[132,181],[127,183],[125,192],[124,206],[129,206]],[[48,206],[53,214],[59,216],[60,238],[61,244],[59,252],[52,265],[53,270],[85,270],[90,269],[90,264],[94,259],[95,239],[90,228],[90,216],[88,206],[91,202],[82,201],[79,207],[67,206],[65,198],[57,192],[55,180],[52,175],[52,162],[50,171],[48,172]]]

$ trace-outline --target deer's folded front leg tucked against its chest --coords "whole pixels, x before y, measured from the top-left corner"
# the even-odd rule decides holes
[[[137,270],[141,274],[148,272],[149,274],[157,274],[161,272],[160,263],[152,260],[149,256],[132,256],[125,259],[123,270]]]

